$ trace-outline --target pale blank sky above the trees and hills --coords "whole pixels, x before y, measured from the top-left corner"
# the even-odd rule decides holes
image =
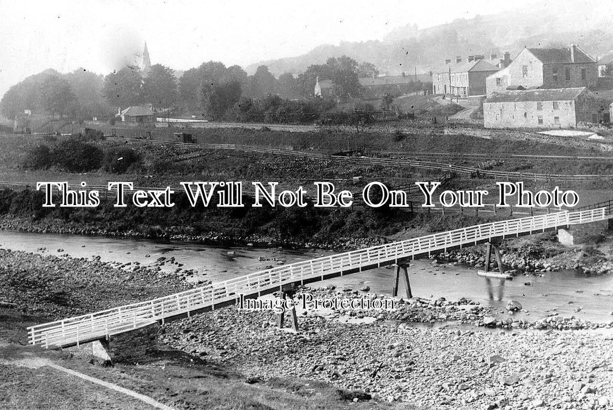
[[[409,23],[426,28],[530,2],[0,0],[0,96],[47,68],[108,74],[134,61],[145,41],[152,64],[244,67],[321,44],[381,40]]]

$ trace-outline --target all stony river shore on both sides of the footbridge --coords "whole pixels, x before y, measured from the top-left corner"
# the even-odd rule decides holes
[[[156,268],[65,255],[0,249],[0,261],[7,284],[0,293],[4,311],[37,315],[37,323],[194,285]],[[367,288],[302,292],[324,298],[382,297]],[[325,383],[352,392],[359,401],[406,403],[408,408],[606,409],[613,404],[613,321],[589,323],[557,315],[528,321],[516,319],[522,309],[516,303],[508,303],[500,315],[466,298],[397,303],[397,309],[386,312],[300,312],[299,333],[277,330],[272,312],[229,306],[167,322],[158,341],[162,350],[176,349],[192,361],[232,369],[250,384],[270,385],[279,377],[297,385]],[[23,341],[26,322],[9,316],[15,319],[0,336]],[[29,320],[28,325],[34,319]],[[102,369],[91,371],[100,374]],[[181,393],[166,400],[187,408]]]

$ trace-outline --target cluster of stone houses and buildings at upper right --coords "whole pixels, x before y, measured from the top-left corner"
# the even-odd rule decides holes
[[[432,75],[433,93],[449,98],[485,98],[486,128],[574,128],[611,122],[613,55],[599,61],[581,47],[524,48],[511,60],[447,59]],[[611,60],[611,61],[609,61]]]

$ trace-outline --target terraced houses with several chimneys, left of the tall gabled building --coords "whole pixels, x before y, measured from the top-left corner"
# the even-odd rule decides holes
[[[464,63],[461,57],[445,60],[445,65],[432,73],[432,93],[468,98],[485,95],[485,79],[498,68],[482,58]]]

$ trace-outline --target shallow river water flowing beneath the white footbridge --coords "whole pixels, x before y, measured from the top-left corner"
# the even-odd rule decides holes
[[[241,276],[277,265],[277,261],[292,263],[323,255],[325,250],[291,250],[253,247],[213,247],[191,242],[156,242],[145,239],[114,239],[76,235],[20,233],[0,231],[0,247],[40,254],[92,258],[121,263],[139,261],[153,265],[159,257],[174,257],[183,269],[196,269],[191,280],[219,280]],[[61,252],[58,252],[61,249]],[[174,271],[177,265],[166,265]],[[311,286],[336,285],[338,288],[390,295],[394,269],[379,268],[344,277],[329,279]],[[527,319],[535,320],[557,312],[574,315],[593,322],[611,322],[613,316],[613,274],[588,276],[576,271],[545,273],[543,276],[519,276],[513,280],[490,279],[493,300],[489,298],[486,280],[474,269],[462,265],[433,265],[430,260],[416,260],[409,267],[413,296],[458,300],[465,297],[503,309],[508,300],[519,301],[528,311]],[[401,277],[400,295],[404,283]],[[498,300],[499,296],[501,300]]]

